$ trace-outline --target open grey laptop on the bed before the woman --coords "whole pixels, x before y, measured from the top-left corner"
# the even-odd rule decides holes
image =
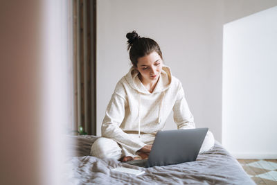
[[[148,168],[195,161],[207,132],[207,127],[159,131],[148,159],[126,163]]]

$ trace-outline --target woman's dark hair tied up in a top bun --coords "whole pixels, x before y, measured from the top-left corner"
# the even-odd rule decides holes
[[[161,59],[163,59],[161,49],[154,39],[140,37],[135,30],[131,33],[127,33],[126,37],[128,39],[127,50],[129,50],[129,58],[134,67],[137,67],[138,58],[149,55],[153,51],[156,51]]]

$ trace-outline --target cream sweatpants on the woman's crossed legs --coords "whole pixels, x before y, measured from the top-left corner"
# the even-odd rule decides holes
[[[138,134],[131,135],[138,136]],[[143,141],[143,143],[145,144],[152,144],[154,142],[154,139],[154,134],[141,134],[141,141]],[[202,147],[199,150],[199,153],[210,150],[211,148],[213,148],[214,144],[215,138],[213,136],[213,133],[208,130]],[[105,137],[100,137],[93,143],[93,145],[91,146],[91,155],[100,159],[113,158],[116,160],[120,159],[123,156],[136,157],[128,152],[125,148],[120,146],[118,143],[116,143],[116,141]]]

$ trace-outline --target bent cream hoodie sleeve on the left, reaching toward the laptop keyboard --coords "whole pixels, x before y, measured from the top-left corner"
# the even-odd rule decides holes
[[[137,150],[145,146],[145,143],[139,139],[131,138],[119,127],[125,117],[125,106],[127,106],[127,100],[115,91],[107,106],[101,132],[102,136],[113,139],[135,155]]]

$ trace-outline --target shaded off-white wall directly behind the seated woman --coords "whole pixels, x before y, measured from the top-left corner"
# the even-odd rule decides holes
[[[276,0],[97,1],[97,135],[116,82],[131,66],[125,35],[137,30],[161,46],[166,64],[183,84],[197,127],[209,127],[221,141],[223,24],[274,4]],[[172,115],[166,129],[175,129]]]

